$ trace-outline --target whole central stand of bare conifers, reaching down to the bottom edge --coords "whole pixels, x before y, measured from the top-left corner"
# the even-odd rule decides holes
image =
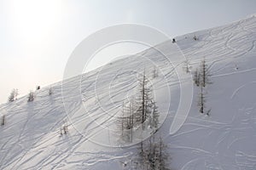
[[[156,68],[152,71],[152,77],[158,77]],[[138,134],[143,136],[144,131],[150,131],[149,139],[143,140],[138,144],[138,153],[132,161],[130,169],[140,170],[162,170],[168,169],[168,154],[166,144],[157,134],[159,129],[159,117],[156,102],[152,97],[151,88],[145,71],[139,77],[137,93],[123,104],[122,115],[118,119],[118,127],[121,129],[121,140],[132,142],[134,138],[139,139]],[[127,166],[127,165],[125,165]]]

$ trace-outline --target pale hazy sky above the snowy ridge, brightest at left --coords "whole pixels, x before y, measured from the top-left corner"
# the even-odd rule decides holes
[[[176,37],[255,13],[255,0],[0,0],[0,103],[12,88],[24,95],[61,81],[73,49],[104,27],[135,23]],[[131,46],[117,54],[142,49]]]

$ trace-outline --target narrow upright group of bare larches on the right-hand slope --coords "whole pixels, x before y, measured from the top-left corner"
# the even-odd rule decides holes
[[[207,116],[209,116],[211,110],[206,111],[207,100],[206,100],[205,91],[206,91],[207,85],[212,83],[209,79],[210,76],[211,75],[210,75],[208,65],[206,63],[206,59],[203,59],[201,61],[200,69],[196,69],[194,72],[194,82],[195,82],[195,85],[200,88],[200,93],[198,97],[198,106],[200,108],[199,111],[202,114],[206,114]]]

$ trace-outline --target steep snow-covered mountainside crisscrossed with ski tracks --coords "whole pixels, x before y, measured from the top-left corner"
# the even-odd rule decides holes
[[[49,87],[42,88],[33,102],[23,97],[1,105],[6,123],[0,127],[0,169],[132,169],[137,144],[119,141],[116,120],[124,100],[136,93],[143,71],[159,106],[159,133],[172,157],[170,168],[256,169],[256,17],[176,41],[158,45],[163,53],[149,48],[55,83],[51,95]],[[190,72],[206,60],[212,82],[203,89],[209,116],[199,112],[201,90],[194,85],[189,116],[170,134],[183,100],[180,83],[189,86],[191,81],[185,68],[177,77],[187,65],[183,55]],[[153,78],[155,68],[159,76]],[[66,125],[67,134],[60,135]]]

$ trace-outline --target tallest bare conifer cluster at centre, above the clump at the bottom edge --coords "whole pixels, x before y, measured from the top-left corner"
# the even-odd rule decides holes
[[[122,139],[132,142],[135,128],[140,130],[144,130],[145,127],[155,128],[159,123],[158,119],[159,112],[144,72],[139,80],[137,94],[123,104],[122,115],[118,120]]]

